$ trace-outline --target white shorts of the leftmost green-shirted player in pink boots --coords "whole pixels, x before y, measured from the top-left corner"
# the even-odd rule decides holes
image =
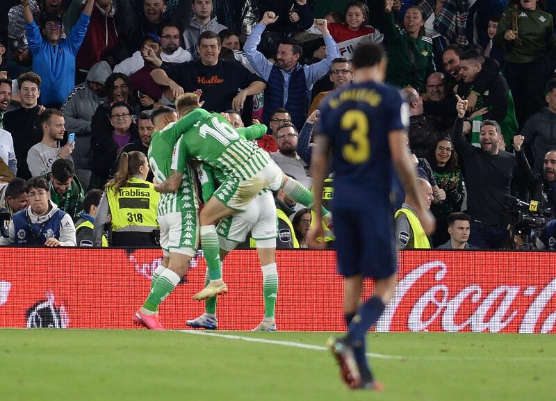
[[[199,219],[195,211],[167,213],[156,218],[161,228],[164,256],[170,252],[194,256],[199,245]]]

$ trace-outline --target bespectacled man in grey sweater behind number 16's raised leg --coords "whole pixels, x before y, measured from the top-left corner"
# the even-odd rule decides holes
[[[270,154],[270,158],[281,170],[297,179],[307,189],[311,189],[309,165],[297,154],[297,129],[291,122],[281,124],[276,130],[278,152]]]

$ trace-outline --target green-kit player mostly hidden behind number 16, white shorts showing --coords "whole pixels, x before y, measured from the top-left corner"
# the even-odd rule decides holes
[[[267,127],[264,124],[255,124],[247,128],[237,128],[236,131],[242,138],[247,140],[257,139],[263,136]],[[202,197],[204,202],[214,194],[215,187],[226,177],[219,170],[213,170],[210,165],[202,163],[197,167],[197,177],[202,185]],[[249,204],[247,210],[240,211],[234,215],[220,220],[216,231],[218,243],[220,244],[220,260],[236,248],[238,243],[243,243],[247,234],[251,232],[256,243],[257,254],[261,261],[261,272],[263,273],[263,300],[264,318],[253,331],[275,332],[275,306],[278,294],[278,270],[276,265],[276,238],[277,238],[277,215],[274,197],[270,190],[263,189],[258,196]],[[208,269],[206,270],[205,286],[210,282]],[[187,320],[189,327],[216,329],[218,319],[216,318],[216,297],[205,300],[205,311],[196,319]]]

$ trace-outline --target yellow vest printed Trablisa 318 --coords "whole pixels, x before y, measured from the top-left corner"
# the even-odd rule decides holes
[[[152,183],[131,177],[116,197],[113,188],[106,192],[113,231],[148,232],[158,227],[156,206],[160,195]]]

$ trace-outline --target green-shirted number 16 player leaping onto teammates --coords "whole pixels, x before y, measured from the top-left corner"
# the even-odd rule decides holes
[[[186,152],[226,177],[199,213],[201,247],[210,281],[193,299],[206,300],[227,293],[220,271],[215,222],[245,211],[263,188],[283,189],[288,196],[309,208],[313,206],[313,194],[286,176],[263,149],[240,138],[222,115],[208,113],[199,106],[199,98],[194,93],[184,93],[176,100]],[[325,220],[329,220],[327,213],[326,210],[322,213],[328,216]]]

